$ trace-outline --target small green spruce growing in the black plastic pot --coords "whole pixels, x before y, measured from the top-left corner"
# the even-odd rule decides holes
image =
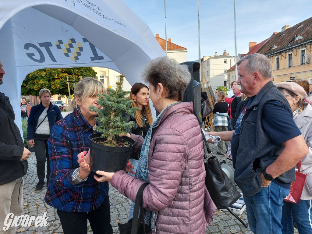
[[[90,110],[97,113],[95,118],[98,126],[95,129],[103,132],[101,138],[107,139],[106,144],[110,145],[115,141],[115,135],[127,134],[134,126],[133,121],[126,121],[123,118],[124,113],[134,117],[135,112],[140,110],[138,107],[132,107],[132,100],[126,98],[131,92],[123,90],[124,75],[119,75],[119,81],[116,82],[116,88],[108,88],[107,94],[97,94],[99,100],[97,103],[103,108],[98,109],[90,105]]]

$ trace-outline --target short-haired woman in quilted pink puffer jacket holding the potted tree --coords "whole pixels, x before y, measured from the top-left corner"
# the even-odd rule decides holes
[[[149,63],[144,74],[149,97],[160,114],[145,139],[128,134],[136,142],[134,150],[142,148],[136,177],[124,171],[97,171],[103,176],[95,178],[111,182],[132,201],[139,187],[149,182],[143,205],[153,213],[152,233],[203,234],[217,207],[205,186],[202,134],[193,104],[180,103],[191,80],[188,67],[160,57]]]

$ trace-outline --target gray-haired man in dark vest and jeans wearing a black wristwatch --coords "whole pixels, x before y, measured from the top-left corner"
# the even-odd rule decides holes
[[[237,66],[237,82],[248,98],[237,106],[234,131],[210,134],[232,140],[234,181],[243,192],[251,231],[281,234],[283,198],[309,149],[288,101],[271,81],[271,61],[251,54]]]

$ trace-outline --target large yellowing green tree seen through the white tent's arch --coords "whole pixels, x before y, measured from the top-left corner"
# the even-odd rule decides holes
[[[69,81],[79,80],[79,76],[95,77],[97,74],[92,67],[74,68],[46,68],[28,74],[22,83],[22,95],[38,95],[42,88],[49,89],[52,95],[68,96],[67,78]],[[71,94],[74,92],[74,83],[69,83]]]

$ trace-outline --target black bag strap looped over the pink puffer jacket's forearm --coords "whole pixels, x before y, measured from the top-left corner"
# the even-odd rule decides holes
[[[137,193],[136,197],[135,197],[131,234],[137,234],[138,231],[139,231],[140,223],[143,222],[143,224],[144,224],[143,191],[144,191],[144,188],[148,184],[149,183],[142,184],[141,187],[138,190],[138,193]],[[142,208],[143,212],[140,211],[140,216],[139,216],[140,208]],[[145,232],[145,225],[143,225],[143,227],[144,227],[144,232]]]

